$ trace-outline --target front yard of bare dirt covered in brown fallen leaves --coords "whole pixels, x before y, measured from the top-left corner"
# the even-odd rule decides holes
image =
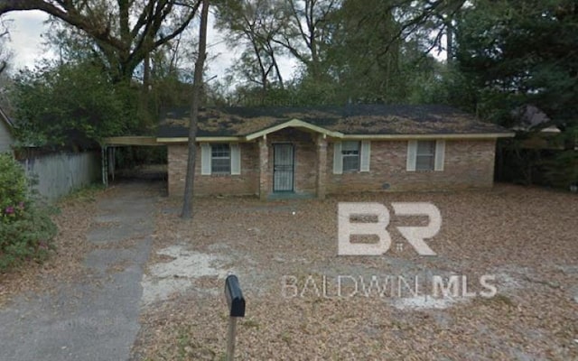
[[[387,207],[385,255],[338,255],[340,201]],[[440,209],[441,231],[427,240],[437,255],[417,255],[397,231],[427,223],[396,216],[391,202],[405,201]],[[238,360],[578,359],[576,195],[499,185],[197,199],[191,222],[179,207],[158,205],[135,360],[224,359],[228,273],[247,300]]]

